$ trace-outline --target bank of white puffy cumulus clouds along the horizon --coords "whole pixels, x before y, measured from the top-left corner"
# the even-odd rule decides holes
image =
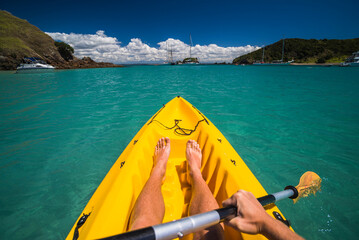
[[[75,56],[91,57],[95,61],[113,63],[159,63],[167,61],[168,51],[172,50],[173,60],[189,57],[189,45],[178,39],[169,38],[159,42],[158,48],[150,47],[139,38],[132,38],[126,46],[115,37],[109,37],[104,31],[96,34],[47,33],[56,41],[70,44]],[[195,45],[191,48],[192,56],[200,62],[231,62],[234,58],[259,49],[258,46],[220,47],[216,44]]]

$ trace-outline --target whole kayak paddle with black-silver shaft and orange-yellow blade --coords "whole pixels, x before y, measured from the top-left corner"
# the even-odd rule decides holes
[[[293,199],[293,202],[296,203],[302,197],[307,197],[311,193],[315,194],[318,190],[320,190],[320,185],[321,179],[316,173],[306,172],[301,176],[298,186],[287,186],[284,191],[269,194],[267,196],[257,198],[257,200],[262,204],[262,206],[272,204],[284,198],[291,198]],[[219,208],[173,222],[102,238],[101,240],[158,240],[173,239],[178,237],[181,238],[186,234],[193,233],[222,222],[230,216],[235,216],[236,212],[237,209],[233,206]]]

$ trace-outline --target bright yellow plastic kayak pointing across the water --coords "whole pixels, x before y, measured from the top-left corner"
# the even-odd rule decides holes
[[[164,105],[141,128],[112,166],[75,222],[66,239],[99,239],[128,231],[129,218],[153,166],[153,153],[161,137],[171,139],[171,153],[162,185],[163,222],[188,216],[191,186],[187,182],[185,149],[189,139],[202,150],[202,175],[219,206],[239,189],[257,198],[267,195],[222,133],[197,108],[181,97]],[[271,204],[269,215],[280,210]],[[88,216],[87,216],[88,215]],[[77,227],[78,221],[81,224]],[[191,239],[192,234],[185,236]],[[266,239],[262,235],[225,229],[226,239]]]

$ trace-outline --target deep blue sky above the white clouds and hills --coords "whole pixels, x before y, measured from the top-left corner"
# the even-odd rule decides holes
[[[54,5],[55,4],[55,5]],[[221,47],[262,46],[286,38],[359,37],[359,1],[2,1],[0,8],[45,32],[95,34],[121,45],[158,48],[168,38]],[[76,50],[76,49],[75,49]]]

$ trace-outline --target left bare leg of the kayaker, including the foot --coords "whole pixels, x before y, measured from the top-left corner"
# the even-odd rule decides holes
[[[165,204],[161,192],[162,181],[170,155],[170,139],[158,140],[153,157],[153,169],[149,179],[138,196],[133,209],[131,230],[162,223]]]

